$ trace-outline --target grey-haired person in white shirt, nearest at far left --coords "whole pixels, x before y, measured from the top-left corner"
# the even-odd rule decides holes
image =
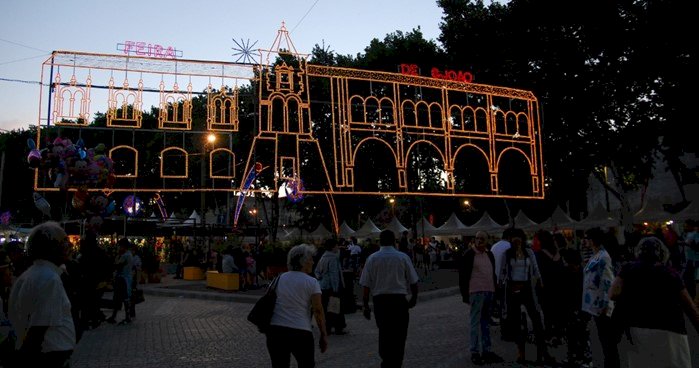
[[[27,367],[63,367],[76,344],[59,267],[68,260],[70,242],[63,228],[49,221],[32,229],[27,247],[34,264],[15,281],[8,307],[18,361]]]

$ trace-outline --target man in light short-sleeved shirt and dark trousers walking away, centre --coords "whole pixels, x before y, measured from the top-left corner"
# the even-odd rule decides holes
[[[410,313],[417,303],[419,278],[407,254],[396,249],[396,236],[384,230],[381,249],[367,258],[359,283],[364,287],[364,317],[371,319],[369,294],[374,301],[379,328],[379,355],[382,367],[401,367],[408,337]],[[410,300],[406,299],[410,290]]]

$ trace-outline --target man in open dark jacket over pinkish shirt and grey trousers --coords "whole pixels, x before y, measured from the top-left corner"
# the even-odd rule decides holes
[[[464,253],[459,267],[459,289],[464,303],[471,306],[471,361],[491,364],[503,359],[492,352],[490,308],[495,295],[495,257],[488,250],[488,234],[476,233],[476,244]]]

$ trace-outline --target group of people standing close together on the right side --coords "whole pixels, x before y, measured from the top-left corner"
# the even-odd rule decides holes
[[[631,346],[629,367],[691,367],[685,316],[699,332],[692,299],[699,282],[696,225],[687,223],[684,238],[669,228],[632,237],[628,253],[599,228],[585,231],[583,252],[544,230],[528,244],[524,231],[507,229],[492,246],[479,232],[458,261],[461,295],[470,305],[472,362],[502,361],[490,344],[490,326],[499,324],[503,340],[516,345],[518,363],[529,363],[525,344],[533,337],[533,363],[557,364],[548,346],[565,342],[561,364],[589,367],[594,321],[604,367],[620,366],[623,336]]]

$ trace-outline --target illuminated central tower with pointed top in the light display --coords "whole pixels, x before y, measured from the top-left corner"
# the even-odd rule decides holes
[[[255,189],[278,190],[296,181],[304,189],[332,191],[318,139],[313,134],[306,54],[299,54],[289,32],[281,29],[269,50],[260,50],[256,68],[258,130],[244,172],[259,162]],[[321,167],[323,169],[321,169]],[[322,170],[320,182],[304,182],[304,170]],[[241,188],[242,189],[242,188]]]

